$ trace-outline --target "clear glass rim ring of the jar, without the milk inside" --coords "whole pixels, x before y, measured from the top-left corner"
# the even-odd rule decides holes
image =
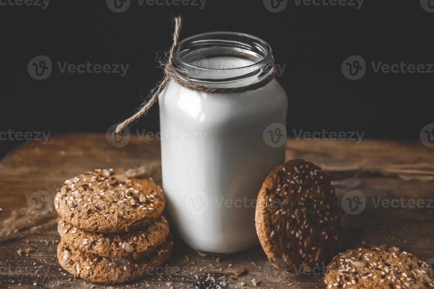
[[[207,59],[203,55],[205,53],[214,53],[220,56],[218,55],[219,52],[223,53],[224,56],[237,56],[240,59],[249,59],[253,63],[230,68],[209,68],[195,65],[189,61],[194,56],[202,56],[204,59]],[[258,80],[260,80],[274,65],[274,59],[271,46],[263,39],[247,33],[222,31],[196,34],[178,42],[174,48],[172,65],[181,77],[191,81],[224,83],[238,81],[242,78],[252,77],[253,75],[256,75]],[[195,73],[191,73],[193,70]],[[245,73],[241,73],[236,77],[217,79],[195,77],[195,75],[209,76],[209,72],[212,74],[213,71],[230,73],[235,70],[243,70]]]

